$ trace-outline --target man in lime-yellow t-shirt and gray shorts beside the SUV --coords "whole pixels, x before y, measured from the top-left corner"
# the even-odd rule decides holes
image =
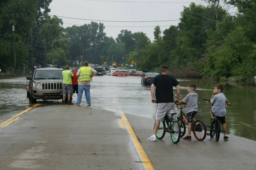
[[[69,66],[65,66],[65,70],[62,71],[63,76],[63,101],[61,104],[65,104],[66,95],[68,94],[68,104],[74,104],[70,101],[71,95],[73,94],[72,79],[74,75],[69,71]]]

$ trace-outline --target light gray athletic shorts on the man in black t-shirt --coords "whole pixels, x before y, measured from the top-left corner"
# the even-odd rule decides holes
[[[155,120],[164,121],[166,114],[170,120],[172,111],[175,112],[174,103],[157,103]],[[177,120],[176,114],[173,115],[173,120]]]

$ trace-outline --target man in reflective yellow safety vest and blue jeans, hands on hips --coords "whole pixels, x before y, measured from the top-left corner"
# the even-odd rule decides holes
[[[83,67],[77,71],[78,81],[78,97],[76,105],[80,105],[82,100],[83,91],[86,97],[88,106],[91,106],[90,87],[92,77],[97,75],[97,71],[88,67],[88,61],[83,62]]]

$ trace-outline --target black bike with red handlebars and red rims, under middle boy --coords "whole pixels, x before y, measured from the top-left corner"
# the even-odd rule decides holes
[[[180,132],[180,137],[183,137],[186,133],[186,125],[185,122],[183,121],[183,119],[186,121],[187,125],[188,122],[185,118],[185,116],[187,116],[187,114],[185,114],[182,109],[185,108],[187,102],[184,103],[176,103],[176,106],[178,109],[180,109],[180,116],[178,118],[178,122],[180,123],[180,128],[183,130],[181,130]],[[184,107],[178,107],[178,105],[180,104],[185,104]],[[194,114],[196,114],[197,111],[194,111]],[[185,116],[184,116],[185,115]],[[194,115],[193,115],[194,118]],[[193,120],[192,120],[193,122]],[[201,120],[196,120],[193,123],[191,123],[191,131],[194,133],[194,136],[196,137],[197,140],[199,141],[203,141],[206,137],[207,131],[206,131],[206,126],[205,123]]]

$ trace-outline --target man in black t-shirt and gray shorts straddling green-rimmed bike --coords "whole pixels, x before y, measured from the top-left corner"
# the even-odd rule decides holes
[[[155,124],[153,135],[150,136],[148,141],[156,141],[156,132],[159,128],[160,121],[164,121],[164,117],[167,114],[171,119],[172,112],[175,112],[174,102],[179,101],[180,86],[179,82],[173,77],[168,75],[169,67],[163,65],[161,67],[162,74],[155,76],[151,85],[152,103],[157,103]],[[155,86],[156,86],[156,98],[155,98]],[[176,99],[173,100],[173,87],[177,89]],[[173,115],[173,120],[177,120],[176,115]]]

